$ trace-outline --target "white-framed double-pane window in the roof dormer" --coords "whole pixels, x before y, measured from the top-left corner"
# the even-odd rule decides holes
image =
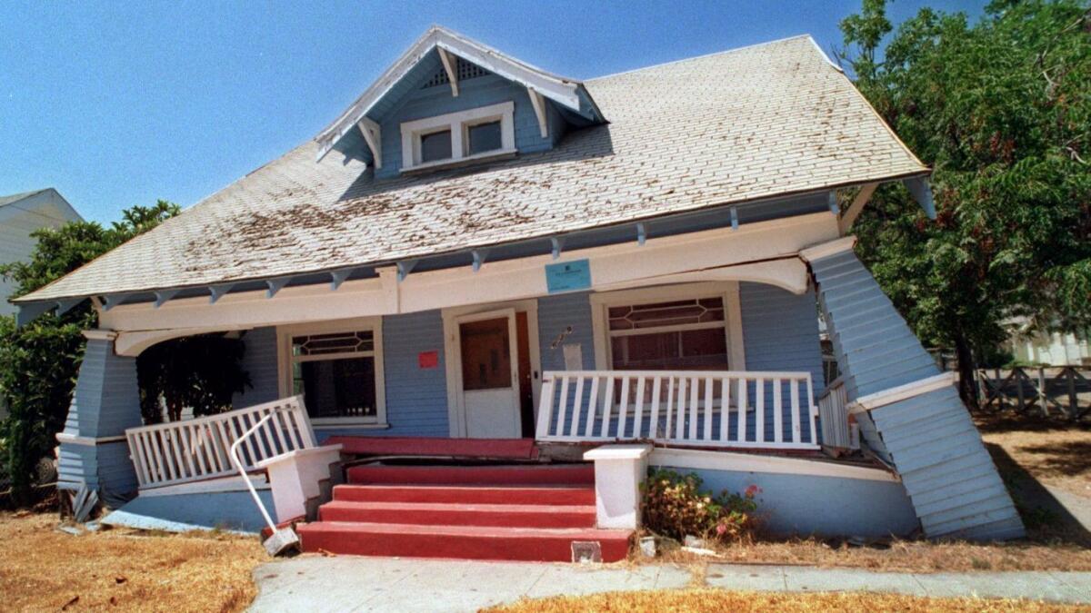
[[[401,124],[401,170],[515,153],[515,104],[507,101]]]

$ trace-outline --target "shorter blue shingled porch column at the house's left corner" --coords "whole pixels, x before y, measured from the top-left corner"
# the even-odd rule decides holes
[[[117,356],[110,330],[84,332],[87,346],[60,442],[58,488],[86,483],[98,498],[120,506],[136,493],[125,429],[141,425],[136,359]]]

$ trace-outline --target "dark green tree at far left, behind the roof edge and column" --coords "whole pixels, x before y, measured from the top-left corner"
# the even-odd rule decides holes
[[[95,257],[145,232],[179,213],[179,207],[159,201],[154,206],[134,206],[109,228],[93,221],[41,229],[27,262],[0,265],[0,276],[15,281],[14,297],[29,293]],[[31,473],[38,458],[57,445],[64,426],[72,387],[83,353],[82,330],[97,324],[86,302],[61,316],[47,313],[15,327],[14,317],[0,317],[0,394],[10,414],[0,424],[7,452],[7,469],[17,503],[29,500]]]

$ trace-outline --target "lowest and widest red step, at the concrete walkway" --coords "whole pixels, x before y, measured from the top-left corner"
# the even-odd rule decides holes
[[[503,528],[316,521],[297,528],[304,552],[350,555],[571,562],[574,541],[600,543],[603,562],[624,560],[628,530]]]

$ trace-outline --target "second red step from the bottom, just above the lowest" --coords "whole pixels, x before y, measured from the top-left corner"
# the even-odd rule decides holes
[[[595,505],[461,504],[334,501],[319,510],[322,521],[594,528]]]

